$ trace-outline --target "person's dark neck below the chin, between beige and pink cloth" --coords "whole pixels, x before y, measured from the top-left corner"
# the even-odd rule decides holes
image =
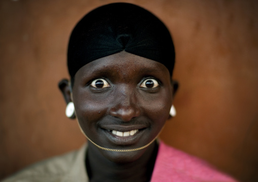
[[[137,160],[115,163],[106,159],[89,142],[86,166],[90,181],[150,181],[157,155],[158,145],[153,142]],[[100,167],[101,166],[101,167]]]

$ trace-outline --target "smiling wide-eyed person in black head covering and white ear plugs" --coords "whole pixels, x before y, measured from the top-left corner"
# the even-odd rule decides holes
[[[174,63],[170,32],[149,11],[113,3],[86,14],[59,88],[88,142],[4,181],[236,181],[157,139],[175,113]]]

